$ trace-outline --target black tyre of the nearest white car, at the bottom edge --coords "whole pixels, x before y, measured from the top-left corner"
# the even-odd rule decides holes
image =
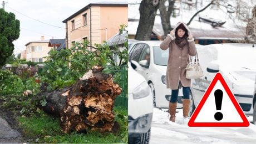
[[[139,144],[139,143],[145,143],[145,144],[148,144],[149,143],[149,140],[150,140],[150,129],[149,128],[149,131],[147,131],[146,133],[142,133],[141,135],[139,135],[138,137],[135,137],[135,138],[128,138],[128,143],[130,144]]]

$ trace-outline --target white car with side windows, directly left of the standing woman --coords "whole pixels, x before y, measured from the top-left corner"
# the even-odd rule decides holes
[[[153,94],[154,107],[169,108],[171,90],[166,88],[166,69],[169,49],[160,49],[161,41],[140,41],[131,45],[128,50],[129,61],[135,60],[142,66],[139,71],[149,84]],[[199,45],[196,45],[199,47]],[[183,93],[179,90],[178,109],[182,108]]]

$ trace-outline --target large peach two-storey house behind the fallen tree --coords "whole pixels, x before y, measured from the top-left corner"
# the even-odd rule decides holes
[[[90,3],[72,16],[66,23],[66,46],[88,40],[90,45],[102,44],[116,33],[120,24],[128,23],[127,1]],[[92,49],[91,49],[92,50]]]

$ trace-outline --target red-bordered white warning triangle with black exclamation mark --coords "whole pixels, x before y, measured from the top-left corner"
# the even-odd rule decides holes
[[[191,116],[190,127],[247,127],[249,121],[220,73],[216,73]]]

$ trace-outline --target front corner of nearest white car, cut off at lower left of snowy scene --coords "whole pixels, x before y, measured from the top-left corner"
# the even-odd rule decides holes
[[[147,81],[135,70],[136,61],[128,69],[128,142],[149,143],[153,114],[152,93]]]

